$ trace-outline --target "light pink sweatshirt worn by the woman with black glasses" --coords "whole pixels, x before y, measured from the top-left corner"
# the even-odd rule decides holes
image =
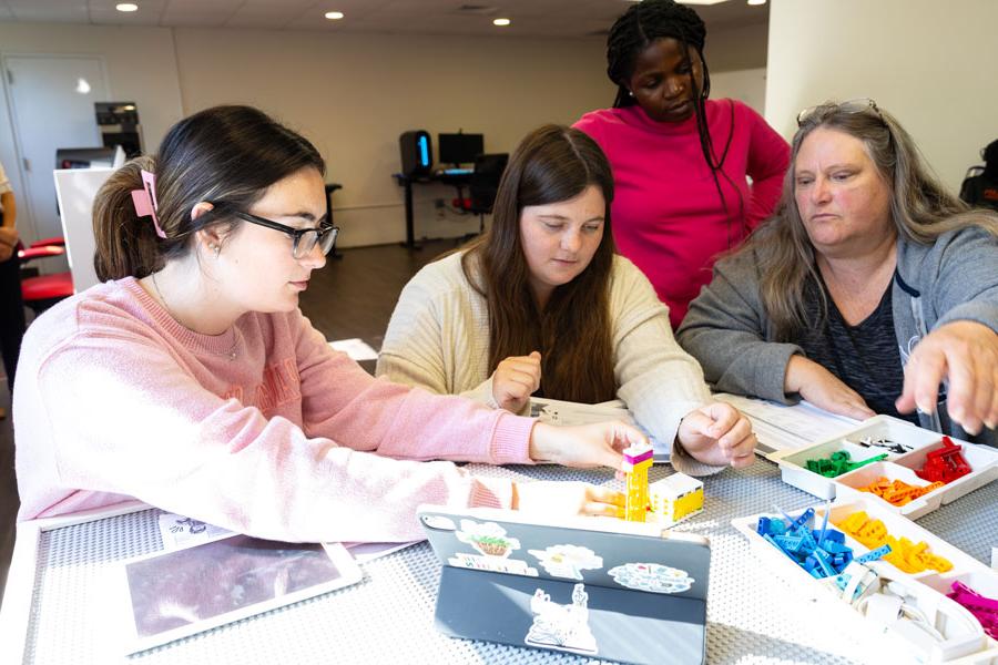
[[[192,332],[133,278],[31,325],[13,415],[20,520],[138,498],[306,542],[421,538],[421,502],[509,507],[508,480],[399,460],[529,463],[533,427],[374,379],[298,310]]]

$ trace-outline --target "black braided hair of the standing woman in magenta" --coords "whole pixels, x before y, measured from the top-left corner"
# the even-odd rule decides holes
[[[731,182],[731,178],[723,171],[724,160],[727,158],[727,151],[734,137],[734,104],[730,104],[731,132],[729,132],[727,142],[721,156],[717,157],[706,123],[706,99],[711,92],[711,73],[707,70],[706,59],[703,57],[706,25],[704,25],[703,20],[695,11],[683,4],[678,4],[673,0],[643,0],[629,7],[628,11],[614,21],[607,38],[607,75],[617,84],[617,99],[613,101],[613,108],[622,109],[638,103],[628,90],[625,82],[634,73],[634,63],[638,60],[638,55],[651,45],[653,41],[663,38],[676,40],[682,47],[683,57],[686,60],[690,60],[691,47],[700,55],[703,66],[702,90],[697,89],[696,79],[693,76],[692,70],[690,72],[690,90],[693,92],[696,133],[700,136],[700,149],[703,152],[703,158],[711,170],[714,188],[717,190],[717,197],[721,200],[721,207],[724,209],[725,216],[727,216],[727,243],[730,247],[731,216],[727,209],[727,202],[721,190],[721,182],[717,180],[717,173],[737,193],[739,219],[744,219],[744,203],[742,202],[741,190]]]

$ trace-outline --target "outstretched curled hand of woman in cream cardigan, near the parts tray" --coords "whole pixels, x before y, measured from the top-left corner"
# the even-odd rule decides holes
[[[713,402],[686,413],[676,438],[686,452],[705,464],[731,464],[741,469],[755,461],[757,441],[752,423],[724,402]]]

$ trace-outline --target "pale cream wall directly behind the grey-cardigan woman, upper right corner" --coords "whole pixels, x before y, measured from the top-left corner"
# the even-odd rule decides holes
[[[773,0],[766,120],[790,139],[801,109],[872,98],[954,192],[998,136],[998,2]]]

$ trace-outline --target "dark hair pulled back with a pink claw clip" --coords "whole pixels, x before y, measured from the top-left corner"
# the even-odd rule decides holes
[[[145,277],[192,247],[198,231],[234,226],[224,214],[191,219],[191,209],[212,202],[216,211],[246,209],[274,183],[325,162],[312,143],[258,109],[214,106],[171,127],[155,157],[132,160],[114,172],[93,203],[94,268],[101,279]],[[156,217],[139,217],[133,190],[142,190],[142,171],[156,176]]]

